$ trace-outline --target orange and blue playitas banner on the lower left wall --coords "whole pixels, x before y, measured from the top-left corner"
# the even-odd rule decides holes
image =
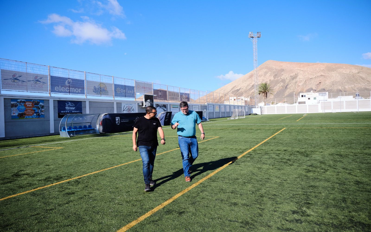
[[[44,118],[44,100],[11,99],[12,119]]]

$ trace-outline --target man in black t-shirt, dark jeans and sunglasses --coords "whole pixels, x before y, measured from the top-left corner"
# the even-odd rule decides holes
[[[150,187],[155,185],[152,180],[152,172],[158,146],[157,130],[161,137],[161,144],[165,144],[164,131],[160,120],[156,118],[156,114],[155,107],[145,108],[145,115],[135,121],[133,130],[133,150],[138,151],[139,149],[143,162],[144,191],[150,191]]]

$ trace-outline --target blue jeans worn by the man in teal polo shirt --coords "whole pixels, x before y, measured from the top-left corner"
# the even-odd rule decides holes
[[[186,138],[178,136],[178,143],[183,159],[184,177],[190,176],[189,169],[198,156],[197,137]]]

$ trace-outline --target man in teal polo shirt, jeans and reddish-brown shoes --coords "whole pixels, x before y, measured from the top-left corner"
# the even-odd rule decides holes
[[[195,111],[189,110],[188,103],[180,102],[180,112],[174,115],[171,129],[177,129],[180,153],[183,159],[183,171],[186,182],[191,182],[190,167],[198,156],[198,143],[196,137],[196,124],[201,131],[201,140],[205,133],[201,118]]]

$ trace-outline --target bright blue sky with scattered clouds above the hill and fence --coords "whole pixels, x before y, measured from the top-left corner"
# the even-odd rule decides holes
[[[371,68],[371,1],[6,1],[0,58],[214,91],[267,60]]]

